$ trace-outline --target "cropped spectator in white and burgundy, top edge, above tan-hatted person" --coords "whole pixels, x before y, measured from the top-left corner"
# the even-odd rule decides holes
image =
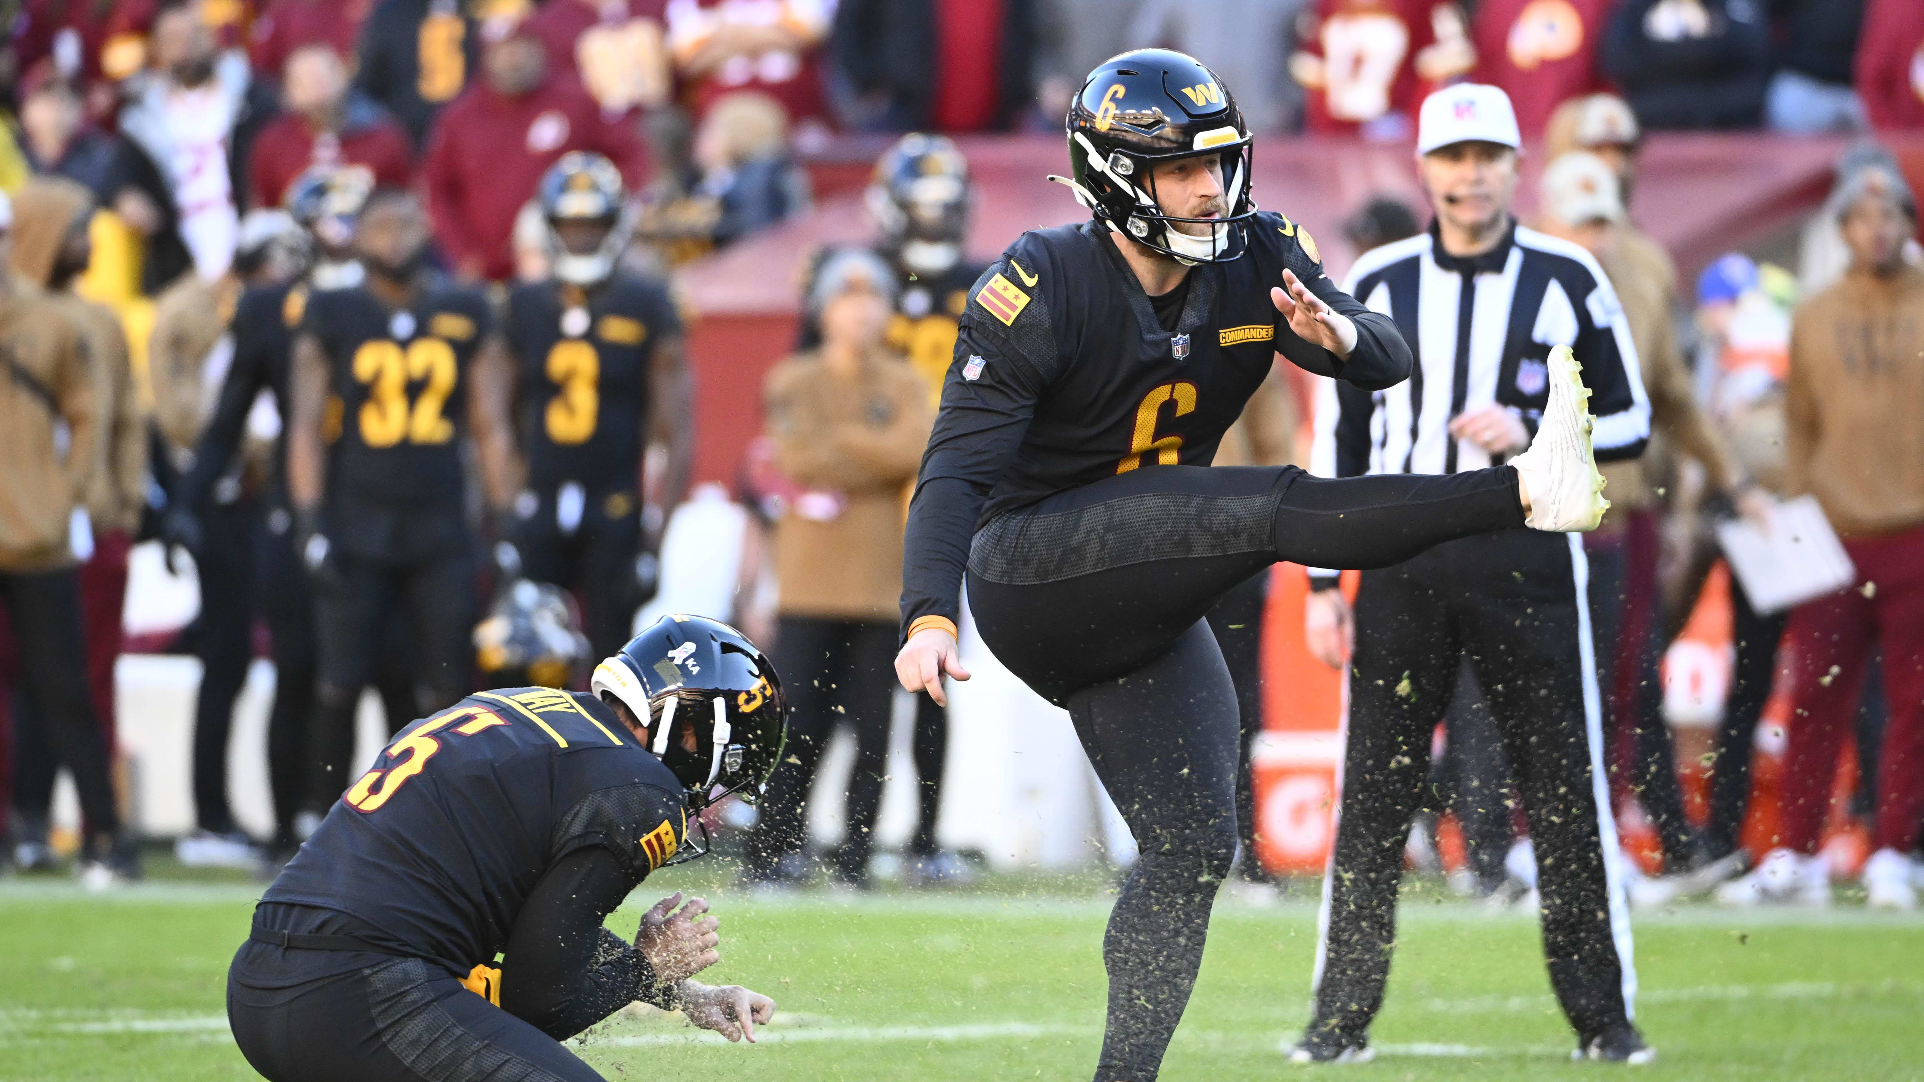
[[[668,0],[668,54],[689,87],[696,119],[716,98],[760,90],[791,121],[823,117],[816,54],[829,31],[827,0]]]

